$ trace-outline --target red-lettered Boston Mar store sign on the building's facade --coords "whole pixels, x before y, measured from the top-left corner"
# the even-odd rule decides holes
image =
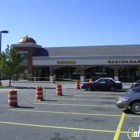
[[[140,63],[140,60],[108,60],[108,63],[118,64],[118,63]]]

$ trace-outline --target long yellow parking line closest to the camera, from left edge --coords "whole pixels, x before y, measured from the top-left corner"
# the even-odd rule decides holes
[[[18,126],[29,126],[29,127],[39,127],[39,128],[51,128],[51,129],[64,129],[64,130],[74,130],[74,131],[115,133],[114,130],[99,130],[99,129],[90,129],[90,128],[51,126],[51,125],[47,125],[47,124],[46,125],[40,125],[40,124],[28,124],[28,123],[5,122],[5,121],[0,121],[0,124],[18,125]]]

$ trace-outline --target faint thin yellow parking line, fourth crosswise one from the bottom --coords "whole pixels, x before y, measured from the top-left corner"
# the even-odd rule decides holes
[[[80,100],[85,100],[85,101],[103,101],[103,102],[115,102],[116,100],[95,100],[95,99],[69,99],[69,98],[51,98],[51,100],[76,100],[76,101],[80,101]]]

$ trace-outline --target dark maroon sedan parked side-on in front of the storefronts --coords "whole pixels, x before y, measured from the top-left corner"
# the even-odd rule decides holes
[[[96,81],[84,83],[81,88],[88,91],[91,90],[110,90],[122,89],[123,85],[121,81],[114,80],[112,78],[99,78]]]

